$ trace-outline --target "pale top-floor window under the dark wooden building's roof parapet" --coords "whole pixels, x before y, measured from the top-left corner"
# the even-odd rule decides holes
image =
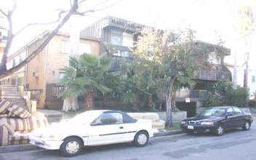
[[[111,44],[133,47],[133,34],[121,31],[111,31]]]

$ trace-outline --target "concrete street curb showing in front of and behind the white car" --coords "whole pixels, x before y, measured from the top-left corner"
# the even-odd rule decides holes
[[[182,130],[174,130],[174,131],[159,131],[153,135],[153,137],[161,137],[167,135],[178,135],[184,133]],[[7,145],[7,146],[0,146],[0,153],[11,153],[11,152],[20,152],[20,151],[33,151],[39,150],[34,145],[31,144],[24,144],[24,145]]]

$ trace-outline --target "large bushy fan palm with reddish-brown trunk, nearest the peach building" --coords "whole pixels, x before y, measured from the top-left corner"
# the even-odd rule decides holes
[[[65,92],[72,92],[72,94],[68,94],[69,96],[85,95],[85,108],[92,108],[95,93],[100,92],[104,95],[111,92],[113,86],[121,85],[121,73],[110,71],[111,64],[112,60],[105,55],[97,57],[83,54],[79,59],[71,57],[69,70],[75,70],[76,76],[73,75],[75,79],[66,85]],[[64,71],[69,70],[65,68]],[[72,78],[68,77],[68,79]]]

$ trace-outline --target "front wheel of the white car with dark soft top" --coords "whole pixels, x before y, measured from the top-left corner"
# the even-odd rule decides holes
[[[63,156],[76,156],[83,148],[81,140],[77,137],[68,137],[60,145],[60,152]]]

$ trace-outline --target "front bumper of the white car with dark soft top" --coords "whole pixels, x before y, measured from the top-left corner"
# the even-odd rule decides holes
[[[29,140],[32,145],[49,150],[58,150],[63,140],[50,140],[49,138],[36,137],[31,135]]]

